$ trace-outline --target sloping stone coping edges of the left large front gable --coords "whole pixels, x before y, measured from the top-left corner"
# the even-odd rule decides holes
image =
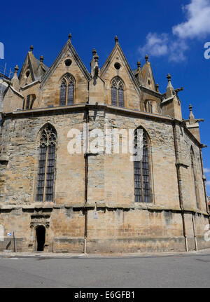
[[[50,69],[46,72],[45,76],[43,77],[43,80],[41,81],[41,88],[45,85],[45,83],[48,81],[48,78],[54,73],[55,69],[61,62],[62,58],[66,53],[69,51],[69,53],[72,55],[73,59],[75,60],[76,64],[80,68],[80,70],[83,72],[83,75],[87,79],[87,81],[90,81],[91,76],[90,73],[87,71],[85,65],[83,62],[80,60],[80,57],[78,56],[78,53],[76,53],[75,48],[72,46],[71,41],[67,41],[64,47],[62,48],[61,52],[57,56],[55,62],[53,62],[52,66]]]

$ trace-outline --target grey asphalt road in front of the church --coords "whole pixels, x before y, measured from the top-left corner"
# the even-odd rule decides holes
[[[0,258],[0,287],[210,286],[210,254]]]

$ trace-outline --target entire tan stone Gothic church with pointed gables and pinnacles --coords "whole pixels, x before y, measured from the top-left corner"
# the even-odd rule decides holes
[[[51,67],[33,46],[6,79],[0,136],[1,251],[129,253],[190,251],[204,240],[209,210],[199,123],[167,75],[160,93],[148,61],[132,70],[115,37],[90,71],[71,34]],[[84,127],[87,130],[84,135]],[[143,156],[69,153],[69,130],[143,132]],[[119,135],[119,144],[123,135]],[[82,143],[83,144],[83,143]],[[15,240],[8,233],[15,232]]]

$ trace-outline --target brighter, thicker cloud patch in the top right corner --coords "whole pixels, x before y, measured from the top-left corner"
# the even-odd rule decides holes
[[[173,34],[181,39],[200,38],[210,34],[210,1],[192,0],[183,6],[187,21],[172,28]]]

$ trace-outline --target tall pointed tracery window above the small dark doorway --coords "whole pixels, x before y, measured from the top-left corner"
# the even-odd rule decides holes
[[[41,132],[39,140],[38,177],[36,186],[37,201],[51,201],[54,195],[55,149],[57,136],[52,125],[48,124]]]

